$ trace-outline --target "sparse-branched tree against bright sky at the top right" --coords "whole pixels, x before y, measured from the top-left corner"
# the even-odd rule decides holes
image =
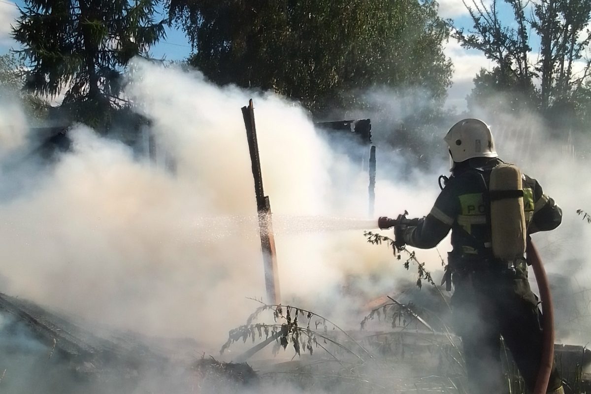
[[[496,63],[492,71],[481,70],[475,77],[469,103],[488,106],[500,95],[506,100],[498,110],[534,108],[554,122],[572,126],[582,115],[577,111],[587,107],[576,100],[586,97],[591,72],[591,61],[583,58],[591,41],[591,0],[504,3],[511,6],[512,21],[499,18],[498,0],[489,6],[470,1],[466,6],[473,28],[454,34],[464,47],[482,51]],[[530,42],[539,47],[534,51]]]

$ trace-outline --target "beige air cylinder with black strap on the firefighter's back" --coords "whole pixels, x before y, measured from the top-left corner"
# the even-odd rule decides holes
[[[489,191],[492,253],[500,259],[521,258],[526,241],[521,170],[512,164],[496,166]]]

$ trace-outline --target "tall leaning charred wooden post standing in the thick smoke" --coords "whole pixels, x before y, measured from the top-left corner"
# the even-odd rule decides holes
[[[242,107],[242,116],[246,127],[246,138],[251,154],[252,176],[255,181],[256,210],[258,211],[259,233],[261,234],[262,258],[265,269],[265,287],[267,300],[270,304],[280,303],[279,275],[277,272],[277,256],[275,255],[275,238],[271,222],[271,204],[262,187],[261,161],[259,159],[258,142],[256,141],[255,113],[252,99],[248,107]]]

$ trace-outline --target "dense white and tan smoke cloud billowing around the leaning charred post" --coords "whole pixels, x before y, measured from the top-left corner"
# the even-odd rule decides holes
[[[361,229],[307,232],[319,226],[301,216],[318,216],[327,228],[334,223],[321,218],[366,217],[368,175],[335,154],[296,104],[147,63],[137,64],[127,94],[176,170],[83,126],[72,129],[72,151],[51,170],[29,174],[34,187],[0,205],[0,291],[115,327],[223,343],[257,306],[245,297],[265,294],[240,110],[251,97],[284,303],[336,310],[345,278],[378,275],[379,285],[364,289],[373,297],[391,292],[397,278],[415,277],[386,246],[366,243]],[[390,154],[378,150],[378,159]],[[378,162],[376,212],[426,214],[438,188],[417,179],[430,187],[416,193],[417,184],[397,183]],[[439,259],[432,261],[437,268]],[[319,295],[335,303],[315,305]]]

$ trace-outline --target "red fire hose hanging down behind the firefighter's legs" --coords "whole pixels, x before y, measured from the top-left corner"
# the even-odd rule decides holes
[[[554,361],[554,311],[552,308],[552,297],[550,295],[548,276],[546,276],[546,271],[542,265],[540,254],[538,253],[538,250],[535,249],[531,239],[528,239],[527,241],[527,259],[534,270],[535,281],[538,282],[540,301],[542,304],[542,358],[540,360],[540,369],[538,370],[538,378],[535,382],[533,394],[544,394],[548,389],[548,381],[550,380],[550,373],[552,372]]]

